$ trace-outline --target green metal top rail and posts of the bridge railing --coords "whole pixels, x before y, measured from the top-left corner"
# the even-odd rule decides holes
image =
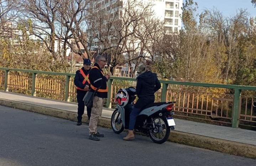
[[[62,75],[66,76],[65,82],[65,101],[69,101],[69,86],[70,86],[70,77],[75,76],[71,73],[56,73],[48,71],[37,71],[37,70],[25,70],[25,69],[11,69],[11,68],[0,68],[0,70],[5,71],[5,81],[4,81],[4,90],[8,91],[8,80],[10,71],[20,71],[25,73],[32,73],[32,96],[35,96],[35,87],[36,87],[36,77],[37,74],[47,74],[47,75]],[[106,100],[106,107],[111,107],[111,94],[112,94],[112,85],[113,80],[127,80],[127,81],[136,81],[134,78],[126,77],[113,77],[111,76],[108,80],[108,98]],[[210,87],[210,88],[222,88],[222,89],[233,89],[234,90],[234,101],[233,101],[233,112],[232,112],[232,127],[237,128],[239,126],[239,115],[240,115],[240,100],[241,100],[241,91],[242,90],[251,90],[255,91],[256,86],[241,86],[241,85],[223,85],[223,84],[208,84],[208,83],[198,83],[198,82],[179,82],[179,81],[166,81],[160,80],[162,83],[162,92],[161,92],[161,101],[166,101],[167,97],[167,88],[168,85],[184,85],[184,86],[198,86],[198,87]]]

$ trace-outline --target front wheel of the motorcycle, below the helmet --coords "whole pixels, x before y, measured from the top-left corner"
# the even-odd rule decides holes
[[[118,109],[112,113],[111,116],[111,128],[114,133],[120,134],[124,131],[124,125],[122,123],[121,115]]]

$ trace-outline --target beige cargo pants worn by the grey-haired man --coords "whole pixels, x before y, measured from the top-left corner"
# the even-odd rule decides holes
[[[100,98],[98,96],[95,96],[93,99],[92,113],[89,122],[89,135],[96,134],[98,132],[97,124],[102,114],[103,100],[104,98]]]

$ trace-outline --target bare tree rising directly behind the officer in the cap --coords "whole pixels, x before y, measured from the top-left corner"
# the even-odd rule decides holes
[[[60,24],[61,33],[59,38],[63,41],[63,51],[66,54],[67,45],[73,50],[73,52],[78,53],[82,56],[82,49],[88,55],[88,58],[92,57],[92,54],[87,49],[87,34],[86,25],[88,20],[88,10],[93,6],[93,0],[66,0],[62,2],[63,5],[58,9],[58,22]],[[72,43],[69,39],[74,39],[78,50],[74,50]],[[80,48],[82,44],[83,48]]]

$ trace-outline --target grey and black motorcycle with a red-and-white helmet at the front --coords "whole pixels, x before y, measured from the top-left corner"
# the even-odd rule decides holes
[[[136,89],[129,87],[120,89],[116,94],[117,106],[111,116],[111,128],[120,134],[129,128],[130,113],[136,98]],[[164,143],[176,125],[172,115],[175,102],[157,102],[142,108],[136,118],[135,132],[145,133],[155,143]]]

